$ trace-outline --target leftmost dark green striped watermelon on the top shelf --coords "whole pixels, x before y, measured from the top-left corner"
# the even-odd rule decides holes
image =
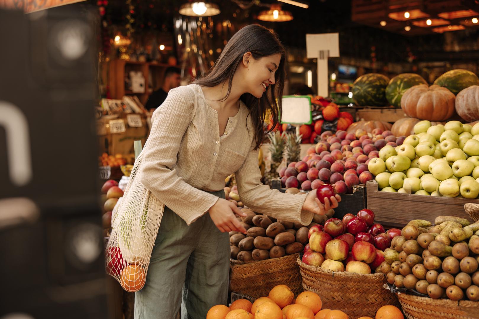
[[[388,104],[385,90],[389,78],[377,73],[358,77],[353,83],[353,100],[359,106],[384,106]]]

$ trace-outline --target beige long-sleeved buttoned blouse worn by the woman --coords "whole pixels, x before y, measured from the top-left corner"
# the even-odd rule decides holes
[[[208,105],[200,86],[171,89],[151,119],[141,182],[189,225],[218,200],[203,190],[221,190],[225,178],[235,173],[246,206],[277,219],[309,224],[313,213],[301,212],[306,196],[283,194],[260,182],[248,114],[241,102],[219,136],[217,111]]]

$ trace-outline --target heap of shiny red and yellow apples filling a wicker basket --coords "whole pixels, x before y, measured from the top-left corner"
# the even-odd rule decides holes
[[[384,250],[401,235],[393,228],[385,231],[374,222],[374,212],[361,209],[356,216],[346,214],[342,220],[330,218],[309,229],[303,263],[332,271],[371,274],[384,262]]]

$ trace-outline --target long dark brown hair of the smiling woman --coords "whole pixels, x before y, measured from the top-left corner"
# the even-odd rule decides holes
[[[261,25],[250,24],[245,26],[231,37],[208,73],[204,77],[196,79],[194,83],[211,88],[228,81],[228,92],[224,98],[220,99],[220,101],[224,101],[231,93],[233,76],[243,60],[243,55],[247,52],[251,52],[254,59],[274,54],[281,55],[281,61],[274,74],[275,84],[271,84],[269,90],[259,99],[250,93],[244,93],[240,97],[250,110],[248,116],[251,115],[256,141],[255,149],[257,149],[261,146],[265,133],[274,130],[279,121],[279,110],[281,109],[281,99],[285,86],[286,50],[279,41],[277,34]],[[264,132],[264,123],[269,115],[271,115],[273,123],[271,128]]]

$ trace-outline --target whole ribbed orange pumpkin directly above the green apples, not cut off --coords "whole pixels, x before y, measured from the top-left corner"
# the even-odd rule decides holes
[[[447,88],[425,84],[409,88],[401,98],[401,109],[411,118],[445,121],[455,113],[456,96]]]

